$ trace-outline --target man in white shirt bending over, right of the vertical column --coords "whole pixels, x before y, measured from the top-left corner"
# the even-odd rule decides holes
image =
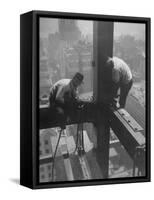
[[[116,107],[124,108],[128,93],[133,85],[132,73],[129,66],[120,58],[108,58],[106,67],[111,72],[111,101]],[[120,89],[120,94],[118,94]],[[119,96],[119,102],[118,102]]]

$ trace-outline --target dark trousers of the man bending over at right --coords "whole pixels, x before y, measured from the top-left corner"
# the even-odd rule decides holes
[[[120,86],[120,100],[119,104],[121,108],[124,108],[126,105],[126,100],[128,93],[133,85],[133,80],[131,80],[128,84],[121,84]]]

